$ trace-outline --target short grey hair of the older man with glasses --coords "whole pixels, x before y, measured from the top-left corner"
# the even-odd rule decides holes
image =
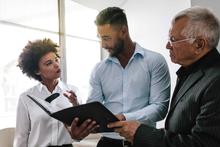
[[[220,26],[218,18],[207,8],[195,6],[179,12],[173,19],[174,24],[178,19],[186,17],[188,23],[181,34],[187,38],[204,37],[210,49],[218,46]]]

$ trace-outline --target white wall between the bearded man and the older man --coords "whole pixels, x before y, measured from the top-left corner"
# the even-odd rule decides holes
[[[132,39],[143,47],[154,50],[166,58],[170,74],[172,91],[176,81],[178,65],[171,63],[166,49],[168,31],[172,17],[179,11],[190,7],[190,0],[136,0],[123,5],[128,17]]]

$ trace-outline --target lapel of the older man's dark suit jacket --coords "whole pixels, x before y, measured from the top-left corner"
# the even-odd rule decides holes
[[[183,95],[201,79],[203,72],[199,70],[196,73],[190,74],[186,81],[183,83],[182,87],[179,89],[175,97],[172,97],[172,102],[170,106],[170,111],[176,106],[176,104],[182,99]]]

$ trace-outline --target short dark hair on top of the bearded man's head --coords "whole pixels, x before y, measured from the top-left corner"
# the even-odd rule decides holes
[[[118,7],[108,7],[101,12],[96,17],[96,25],[110,24],[112,26],[122,26],[127,25],[127,18],[124,10]]]

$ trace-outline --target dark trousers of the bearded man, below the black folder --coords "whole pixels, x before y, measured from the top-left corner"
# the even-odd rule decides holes
[[[132,147],[131,143],[121,139],[101,137],[96,147]]]

